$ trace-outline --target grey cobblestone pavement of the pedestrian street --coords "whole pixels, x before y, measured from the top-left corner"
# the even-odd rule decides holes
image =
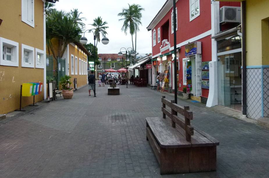
[[[267,129],[181,99],[193,111],[193,125],[220,141],[217,171],[160,176],[145,118],[161,116],[161,95],[129,85],[108,96],[106,85],[94,98],[85,86],[70,100],[27,107],[0,121],[0,177],[269,176]]]

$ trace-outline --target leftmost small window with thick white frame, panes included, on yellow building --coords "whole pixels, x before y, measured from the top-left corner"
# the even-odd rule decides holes
[[[0,65],[19,66],[19,43],[0,37]]]

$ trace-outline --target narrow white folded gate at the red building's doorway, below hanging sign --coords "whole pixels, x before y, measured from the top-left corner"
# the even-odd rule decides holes
[[[196,96],[201,96],[201,80],[202,80],[202,55],[195,54],[195,68],[196,68],[196,79],[195,79],[195,93]]]

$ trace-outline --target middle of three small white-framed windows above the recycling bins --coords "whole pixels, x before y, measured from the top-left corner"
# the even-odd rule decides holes
[[[35,67],[34,48],[22,44],[22,67]]]

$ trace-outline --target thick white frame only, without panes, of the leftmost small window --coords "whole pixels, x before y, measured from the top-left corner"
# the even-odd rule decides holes
[[[12,49],[12,58],[11,61],[7,61],[3,59],[3,46],[11,47]],[[8,40],[6,38],[0,37],[0,65],[7,66],[19,66],[19,43]]]

